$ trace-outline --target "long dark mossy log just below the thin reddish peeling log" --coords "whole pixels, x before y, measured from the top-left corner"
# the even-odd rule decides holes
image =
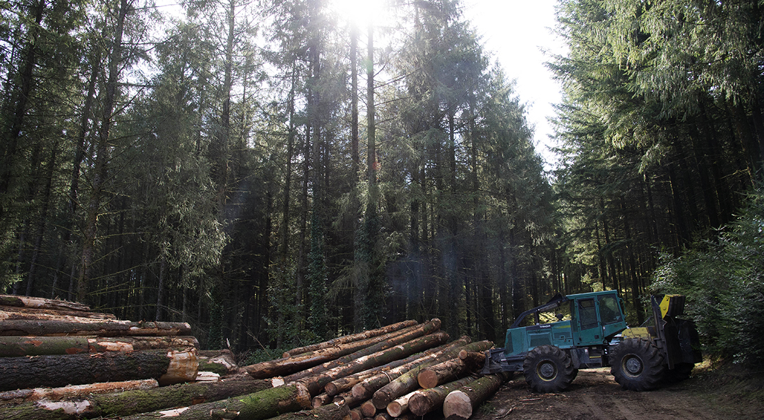
[[[66,388],[72,387],[63,389]],[[82,399],[66,402],[64,406],[73,410],[69,414],[63,412],[63,407],[58,410],[55,405],[24,402],[2,407],[0,411],[4,414],[0,415],[0,418],[75,420],[76,418],[121,417],[203,402],[215,402],[257,393],[263,389],[271,389],[270,383],[264,380],[252,380],[248,376],[244,376],[244,379],[223,380],[215,383],[180,383],[150,390],[128,390],[121,393],[84,396]]]

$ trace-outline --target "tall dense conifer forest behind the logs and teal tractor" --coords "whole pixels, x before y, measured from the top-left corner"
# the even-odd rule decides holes
[[[758,1],[559,0],[551,170],[460,0],[170,3],[0,1],[0,291],[235,351],[682,292],[764,360]]]

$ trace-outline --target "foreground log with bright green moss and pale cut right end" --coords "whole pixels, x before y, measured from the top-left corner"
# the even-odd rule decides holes
[[[299,383],[264,389],[258,393],[188,405],[178,409],[146,412],[137,415],[120,415],[121,420],[144,420],[157,417],[173,417],[176,420],[203,420],[237,418],[238,420],[264,420],[289,412],[310,408],[310,396]]]

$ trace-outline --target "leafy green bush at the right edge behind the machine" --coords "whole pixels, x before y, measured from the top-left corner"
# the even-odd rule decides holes
[[[717,242],[697,244],[681,257],[664,256],[652,287],[688,296],[686,310],[708,351],[764,363],[764,189],[749,194]]]

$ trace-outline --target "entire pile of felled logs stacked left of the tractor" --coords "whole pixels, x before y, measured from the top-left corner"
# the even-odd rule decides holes
[[[230,352],[199,351],[187,324],[118,321],[44,300],[0,295],[0,419],[388,420],[440,415],[447,404],[448,415],[468,418],[507,380],[478,380],[493,344],[449,342],[438,319],[240,369]]]

